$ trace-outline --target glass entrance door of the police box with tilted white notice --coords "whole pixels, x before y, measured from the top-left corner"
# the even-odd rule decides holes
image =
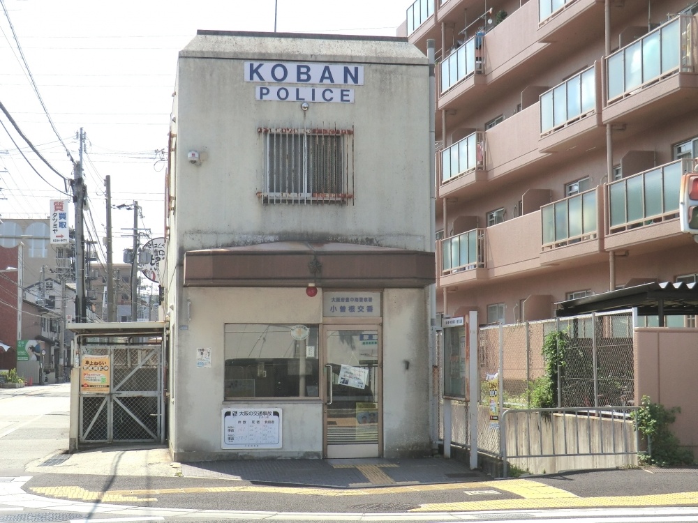
[[[380,456],[380,330],[325,327],[327,457]]]

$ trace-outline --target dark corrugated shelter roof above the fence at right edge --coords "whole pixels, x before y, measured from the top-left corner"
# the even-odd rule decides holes
[[[698,314],[698,285],[695,283],[646,283],[635,287],[585,296],[556,303],[558,317],[637,308],[641,316]]]

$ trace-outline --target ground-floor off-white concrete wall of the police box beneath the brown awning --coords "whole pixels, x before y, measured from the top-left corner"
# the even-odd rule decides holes
[[[385,457],[426,455],[429,439],[429,351],[426,300],[422,289],[383,293],[383,444]],[[322,323],[322,290],[309,298],[305,289],[223,289],[188,287],[179,317],[170,397],[170,448],[175,460],[227,457],[322,457],[322,400],[223,400],[224,328],[232,323]],[[328,319],[329,320],[329,319]],[[196,366],[197,347],[211,347],[211,368]],[[405,361],[410,362],[406,369]],[[320,362],[322,364],[322,361]],[[322,377],[321,377],[322,379]],[[222,450],[221,409],[280,407],[283,448]]]

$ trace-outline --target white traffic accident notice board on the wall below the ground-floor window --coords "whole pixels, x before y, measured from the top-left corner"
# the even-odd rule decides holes
[[[229,407],[221,418],[222,448],[281,448],[281,409]]]

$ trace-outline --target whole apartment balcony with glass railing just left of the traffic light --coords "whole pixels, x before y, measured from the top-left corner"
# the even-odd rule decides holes
[[[680,236],[681,174],[691,170],[691,160],[678,160],[609,183],[607,249]]]

